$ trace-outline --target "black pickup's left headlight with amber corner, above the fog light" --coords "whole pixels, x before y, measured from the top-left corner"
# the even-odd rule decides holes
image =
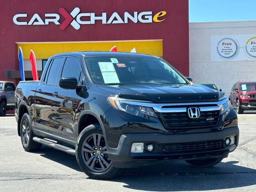
[[[121,99],[119,97],[108,97],[108,101],[116,109],[119,109],[121,111],[130,113],[130,114],[136,115],[136,116],[150,115],[153,117],[157,117],[153,108],[122,103],[123,100],[124,99]]]

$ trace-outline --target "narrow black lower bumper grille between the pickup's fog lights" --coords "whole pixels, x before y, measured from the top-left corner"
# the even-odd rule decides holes
[[[180,154],[190,152],[202,152],[220,150],[223,148],[223,140],[178,143],[178,144],[160,144],[158,145],[158,153],[160,154]]]

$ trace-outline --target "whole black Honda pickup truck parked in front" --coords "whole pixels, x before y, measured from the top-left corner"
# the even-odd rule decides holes
[[[40,81],[16,88],[18,135],[25,151],[76,155],[96,179],[159,160],[213,166],[238,145],[236,112],[224,92],[190,81],[156,56],[56,54]]]

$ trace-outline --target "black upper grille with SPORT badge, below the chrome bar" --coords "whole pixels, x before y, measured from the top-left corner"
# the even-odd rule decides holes
[[[189,118],[187,112],[161,114],[167,129],[212,127],[218,124],[220,118],[220,110],[201,111],[199,118]]]

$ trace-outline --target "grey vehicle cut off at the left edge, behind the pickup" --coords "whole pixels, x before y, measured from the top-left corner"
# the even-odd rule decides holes
[[[0,81],[0,116],[5,116],[6,111],[15,109],[14,82]]]

